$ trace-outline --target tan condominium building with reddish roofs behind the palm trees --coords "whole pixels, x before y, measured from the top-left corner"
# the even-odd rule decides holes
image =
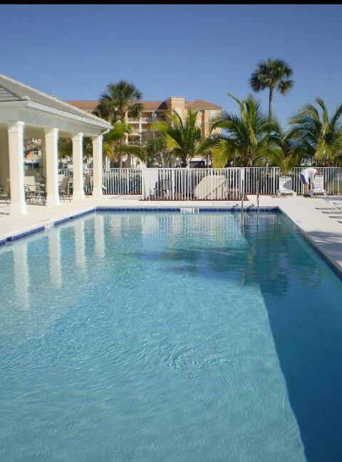
[[[90,113],[93,113],[98,106],[98,101],[66,102]],[[202,99],[186,101],[184,96],[170,96],[165,101],[141,101],[141,103],[143,111],[140,118],[133,118],[127,113],[125,114],[126,122],[132,126],[128,136],[129,144],[139,144],[148,139],[153,134],[152,123],[157,120],[167,121],[166,115],[171,114],[172,111],[177,111],[183,119],[187,116],[187,111],[197,111],[197,126],[201,129],[202,136],[207,137],[212,129],[212,122],[222,111],[222,107],[217,104]],[[204,166],[205,161],[203,157],[194,158],[191,164],[192,166]]]

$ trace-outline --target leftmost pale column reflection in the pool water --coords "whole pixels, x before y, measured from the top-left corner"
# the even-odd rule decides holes
[[[14,245],[12,249],[14,261],[14,279],[16,284],[16,296],[20,308],[30,308],[29,301],[29,271],[27,263],[27,243]]]

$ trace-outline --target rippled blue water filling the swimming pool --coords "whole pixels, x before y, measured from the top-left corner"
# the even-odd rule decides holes
[[[0,250],[0,460],[341,461],[342,284],[280,214]]]

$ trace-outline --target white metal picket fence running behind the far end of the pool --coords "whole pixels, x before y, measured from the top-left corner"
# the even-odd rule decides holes
[[[292,189],[302,194],[295,167],[288,174]],[[342,194],[342,167],[319,168],[328,194]],[[72,175],[69,170],[63,171]],[[93,174],[89,170],[89,174]],[[137,194],[144,200],[237,200],[246,194],[276,194],[279,188],[277,167],[229,169],[108,169],[103,170],[104,194]]]

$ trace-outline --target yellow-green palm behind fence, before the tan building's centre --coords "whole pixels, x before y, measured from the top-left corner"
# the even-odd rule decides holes
[[[183,121],[177,111],[167,114],[167,121],[156,121],[152,124],[152,130],[165,134],[165,142],[168,151],[172,152],[182,161],[182,167],[186,167],[188,161],[199,153],[201,130],[197,126],[197,111],[187,111],[187,117]]]

